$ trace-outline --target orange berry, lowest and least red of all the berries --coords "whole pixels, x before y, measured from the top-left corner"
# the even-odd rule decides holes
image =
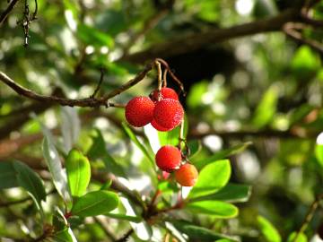
[[[198,177],[198,172],[195,166],[184,164],[175,171],[175,179],[181,186],[194,186]]]

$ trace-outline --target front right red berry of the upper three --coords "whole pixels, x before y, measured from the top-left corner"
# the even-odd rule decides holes
[[[184,117],[184,109],[178,100],[162,99],[153,109],[153,119],[167,129],[178,126]]]

